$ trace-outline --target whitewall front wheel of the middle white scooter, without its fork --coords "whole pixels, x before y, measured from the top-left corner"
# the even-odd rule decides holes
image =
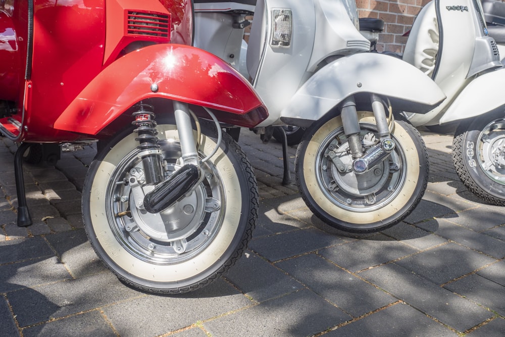
[[[373,114],[358,112],[362,144],[379,140]],[[347,232],[388,228],[409,215],[428,183],[428,152],[419,132],[395,121],[395,149],[367,172],[352,170],[352,157],[341,118],[320,120],[307,129],[298,146],[295,174],[298,189],[323,222]]]

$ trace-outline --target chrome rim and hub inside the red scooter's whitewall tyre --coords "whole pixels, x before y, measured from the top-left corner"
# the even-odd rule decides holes
[[[180,144],[160,141],[165,177],[180,167]],[[218,171],[211,161],[201,166],[204,180],[182,200],[150,214],[135,206],[132,187],[126,181],[135,177],[144,193],[153,186],[143,184],[143,166],[138,151],[130,152],[117,165],[107,186],[107,218],[121,246],[136,258],[153,264],[177,264],[204,251],[219,232],[225,205]],[[200,154],[203,158],[203,154]]]

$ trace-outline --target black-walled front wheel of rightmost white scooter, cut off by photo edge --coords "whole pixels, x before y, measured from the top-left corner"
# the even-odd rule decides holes
[[[486,114],[462,123],[452,140],[461,181],[484,201],[505,206],[505,117]]]

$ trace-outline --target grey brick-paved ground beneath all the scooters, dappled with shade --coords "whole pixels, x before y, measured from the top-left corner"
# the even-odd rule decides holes
[[[88,244],[80,190],[92,148],[56,168],[25,166],[34,224],[17,227],[16,146],[2,138],[0,336],[502,335],[503,208],[459,181],[451,136],[423,137],[431,173],[419,207],[393,228],[349,235],[281,185],[279,143],[244,132],[262,198],[249,250],[226,277],[172,297],[125,286]]]

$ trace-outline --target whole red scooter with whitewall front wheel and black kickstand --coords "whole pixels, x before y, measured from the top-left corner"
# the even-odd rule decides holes
[[[0,132],[15,155],[97,141],[82,191],[91,245],[142,290],[183,293],[239,258],[257,218],[252,168],[223,127],[268,112],[219,58],[191,46],[191,0],[1,0]],[[156,115],[155,115],[156,114]]]

